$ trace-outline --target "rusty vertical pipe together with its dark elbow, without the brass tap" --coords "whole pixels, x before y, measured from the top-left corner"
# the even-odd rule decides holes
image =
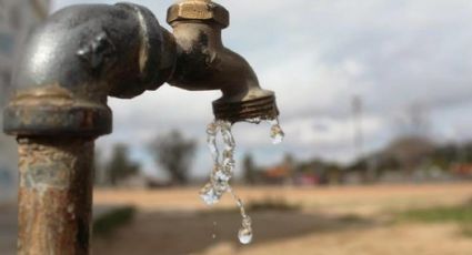
[[[145,8],[73,6],[30,35],[3,130],[20,154],[18,254],[89,254],[93,143],[111,132],[107,96],[172,73],[175,45]]]

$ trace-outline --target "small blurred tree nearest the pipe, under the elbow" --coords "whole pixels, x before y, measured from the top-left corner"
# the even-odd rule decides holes
[[[129,150],[125,144],[116,144],[106,170],[110,184],[116,186],[120,181],[138,174],[140,165],[129,159]]]

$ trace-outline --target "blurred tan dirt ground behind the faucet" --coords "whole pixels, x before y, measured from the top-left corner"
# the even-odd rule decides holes
[[[249,212],[254,241],[237,242],[241,224],[228,196],[208,208],[198,188],[97,191],[98,205],[134,205],[134,221],[94,239],[94,254],[313,254],[471,255],[472,238],[454,223],[398,223],[413,207],[454,205],[472,198],[472,183],[366,187],[235,187],[245,203],[284,200],[299,211]]]

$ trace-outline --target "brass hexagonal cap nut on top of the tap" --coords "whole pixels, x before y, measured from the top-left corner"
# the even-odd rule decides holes
[[[168,10],[169,24],[181,20],[214,22],[224,29],[230,26],[230,12],[211,0],[185,0],[171,6]]]

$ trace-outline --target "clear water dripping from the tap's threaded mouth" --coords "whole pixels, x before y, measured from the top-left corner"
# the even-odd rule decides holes
[[[261,120],[253,119],[248,120],[248,122],[259,124]],[[272,143],[281,143],[284,134],[280,128],[279,120],[271,120],[269,123],[271,124],[270,137],[272,139]],[[238,238],[242,244],[249,244],[252,241],[251,217],[245,213],[244,204],[230,185],[230,180],[233,176],[235,167],[235,141],[231,132],[231,122],[220,120],[215,120],[207,126],[207,143],[213,159],[213,170],[210,181],[200,191],[200,196],[207,205],[213,205],[221,200],[224,193],[230,193],[242,217]],[[217,144],[218,134],[221,135],[224,145],[221,153]]]

